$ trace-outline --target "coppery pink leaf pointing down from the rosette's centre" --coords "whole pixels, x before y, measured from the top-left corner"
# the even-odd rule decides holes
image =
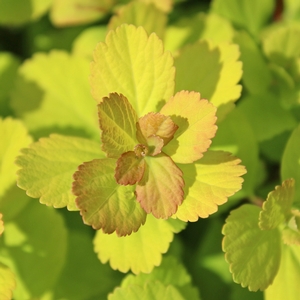
[[[142,180],[136,186],[136,199],[146,213],[167,219],[183,201],[182,171],[164,153],[155,157],[146,156],[144,159],[146,168]]]

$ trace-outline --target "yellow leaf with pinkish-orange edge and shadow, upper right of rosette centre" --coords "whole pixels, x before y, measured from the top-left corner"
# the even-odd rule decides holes
[[[160,111],[179,127],[163,151],[176,163],[192,163],[203,156],[217,131],[216,108],[199,93],[181,91]]]

